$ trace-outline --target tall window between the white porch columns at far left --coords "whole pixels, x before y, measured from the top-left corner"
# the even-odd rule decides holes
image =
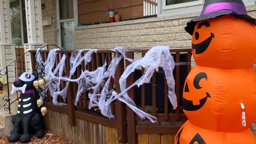
[[[10,2],[11,37],[16,46],[28,43],[25,1],[14,0]]]

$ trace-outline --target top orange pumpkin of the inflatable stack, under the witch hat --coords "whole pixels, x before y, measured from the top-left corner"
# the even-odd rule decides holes
[[[231,15],[198,21],[192,35],[192,53],[198,66],[244,69],[255,62],[254,25]],[[243,57],[243,59],[241,59]]]

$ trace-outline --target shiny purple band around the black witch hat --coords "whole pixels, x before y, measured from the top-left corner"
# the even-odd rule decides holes
[[[232,2],[213,3],[203,8],[201,15],[217,11],[234,11],[236,13],[247,15],[245,5]]]

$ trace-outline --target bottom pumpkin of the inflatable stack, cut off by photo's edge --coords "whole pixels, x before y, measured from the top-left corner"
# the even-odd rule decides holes
[[[247,129],[239,133],[205,130],[186,121],[175,137],[175,144],[254,144],[255,137]]]

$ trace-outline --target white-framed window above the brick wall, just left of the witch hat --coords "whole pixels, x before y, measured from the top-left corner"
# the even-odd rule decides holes
[[[163,10],[202,5],[203,0],[162,0]]]

